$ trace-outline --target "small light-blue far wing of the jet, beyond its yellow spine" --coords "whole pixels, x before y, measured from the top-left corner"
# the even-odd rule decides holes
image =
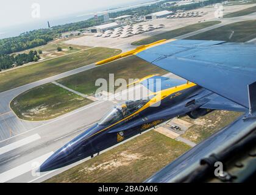
[[[169,77],[152,76],[140,82],[144,87],[152,92],[162,91],[167,88],[176,87],[187,83],[187,80],[172,79]],[[159,84],[158,84],[159,83]]]

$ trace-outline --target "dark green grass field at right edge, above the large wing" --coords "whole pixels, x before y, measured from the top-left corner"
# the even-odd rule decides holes
[[[229,42],[245,42],[256,37],[256,20],[227,24],[201,34],[188,37],[194,40],[219,40]]]

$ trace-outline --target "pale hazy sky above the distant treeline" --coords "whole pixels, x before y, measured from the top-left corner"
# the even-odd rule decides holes
[[[60,19],[75,13],[94,13],[95,10],[147,1],[150,0],[1,0],[0,33],[4,27],[36,23],[42,19]]]

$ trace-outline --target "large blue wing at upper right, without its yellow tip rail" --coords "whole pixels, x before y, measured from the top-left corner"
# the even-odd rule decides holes
[[[136,55],[249,108],[247,89],[256,81],[256,44],[176,40]]]

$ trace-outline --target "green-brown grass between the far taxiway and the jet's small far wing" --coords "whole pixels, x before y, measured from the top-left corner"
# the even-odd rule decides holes
[[[99,66],[99,68],[57,80],[57,82],[80,93],[93,94],[99,88],[95,86],[95,81],[99,78],[108,81],[110,73],[115,74],[115,79],[123,78],[127,81],[128,79],[141,79],[149,74],[166,74],[168,72],[132,55]]]

